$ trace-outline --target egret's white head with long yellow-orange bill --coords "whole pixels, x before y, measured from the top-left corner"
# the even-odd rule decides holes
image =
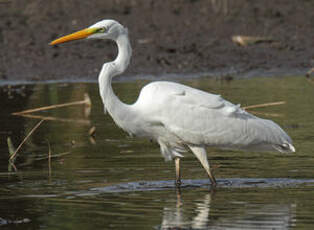
[[[64,42],[79,40],[84,38],[111,39],[116,40],[119,35],[127,33],[127,29],[115,20],[105,19],[91,25],[90,27],[75,33],[58,38],[50,43],[57,45]]]

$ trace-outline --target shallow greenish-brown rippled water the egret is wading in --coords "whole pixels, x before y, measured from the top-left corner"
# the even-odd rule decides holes
[[[115,83],[132,103],[147,81]],[[184,84],[221,94],[280,124],[297,153],[211,149],[218,188],[186,154],[183,188],[173,184],[174,164],[159,147],[132,139],[108,115],[93,83],[1,88],[0,227],[3,229],[312,229],[314,226],[314,85],[303,77],[233,81],[193,79]],[[7,137],[15,147],[39,120],[10,115],[24,109],[78,101],[88,93],[91,111],[72,106],[34,113],[44,121],[8,165]],[[273,114],[276,116],[268,116]],[[96,127],[91,138],[89,129]],[[54,156],[49,162],[49,146]],[[16,171],[15,171],[16,170]]]

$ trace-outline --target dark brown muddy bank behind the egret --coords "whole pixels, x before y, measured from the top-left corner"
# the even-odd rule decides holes
[[[113,18],[133,47],[125,75],[307,69],[314,65],[314,2],[251,0],[0,0],[0,79],[96,79],[112,42],[58,36]],[[234,35],[271,37],[246,47]]]

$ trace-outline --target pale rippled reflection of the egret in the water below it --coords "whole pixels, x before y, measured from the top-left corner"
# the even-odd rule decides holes
[[[295,204],[250,204],[237,201],[230,207],[217,207],[214,193],[207,193],[202,200],[184,203],[181,194],[173,206],[163,209],[161,225],[157,229],[290,229],[295,225]],[[212,209],[212,211],[211,211]]]

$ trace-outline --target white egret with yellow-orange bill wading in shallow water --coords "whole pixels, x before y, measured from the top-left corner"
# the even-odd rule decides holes
[[[115,20],[102,20],[87,29],[52,41],[51,45],[83,38],[110,39],[118,55],[104,63],[98,82],[105,111],[130,135],[155,140],[166,160],[175,160],[180,186],[180,158],[191,150],[216,185],[206,147],[250,151],[295,152],[291,138],[273,121],[258,118],[238,105],[178,83],[157,81],[146,85],[137,101],[124,104],[111,87],[112,78],[129,65],[132,49],[128,30]]]

